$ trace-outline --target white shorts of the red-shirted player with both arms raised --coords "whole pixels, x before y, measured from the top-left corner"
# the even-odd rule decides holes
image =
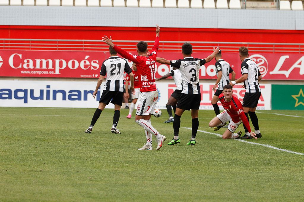
[[[154,109],[156,107],[157,100],[157,90],[151,92],[140,92],[139,99],[136,103],[136,115],[144,116],[154,114]]]

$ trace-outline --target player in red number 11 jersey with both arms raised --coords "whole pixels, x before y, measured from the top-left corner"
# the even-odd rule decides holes
[[[135,122],[145,129],[147,143],[139,150],[152,150],[152,135],[156,136],[157,148],[159,150],[163,146],[163,141],[166,137],[158,133],[151,125],[151,115],[154,114],[154,109],[158,100],[158,92],[155,86],[155,62],[158,52],[160,28],[156,27],[156,39],[151,53],[148,51],[147,42],[140,41],[137,43],[138,55],[131,55],[125,50],[119,48],[112,42],[112,37],[102,37],[102,41],[113,47],[123,58],[135,62],[138,75],[140,75],[140,98],[137,100]]]

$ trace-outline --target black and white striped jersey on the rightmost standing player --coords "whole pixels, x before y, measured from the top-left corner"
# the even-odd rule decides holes
[[[250,58],[246,58],[241,64],[241,73],[248,74],[248,78],[244,81],[246,93],[261,92],[258,82],[258,76],[261,75],[257,64]]]

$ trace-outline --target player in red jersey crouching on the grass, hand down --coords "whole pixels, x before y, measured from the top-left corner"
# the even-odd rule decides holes
[[[223,87],[223,93],[219,95],[219,101],[222,103],[225,111],[214,117],[210,121],[209,126],[221,128],[224,126],[224,123],[230,121],[228,129],[223,133],[222,137],[223,139],[237,139],[241,136],[242,132],[234,133],[234,131],[244,122],[244,125],[250,132],[250,137],[257,139],[256,134],[250,130],[250,125],[245,116],[242,103],[234,97],[232,93],[232,86],[227,84]]]

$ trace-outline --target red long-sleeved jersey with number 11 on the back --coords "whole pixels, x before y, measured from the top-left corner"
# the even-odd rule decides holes
[[[148,56],[131,55],[117,45],[113,49],[123,58],[136,63],[137,73],[140,76],[140,92],[150,92],[156,90],[155,85],[155,62],[158,51],[159,37],[155,39],[154,46]]]

